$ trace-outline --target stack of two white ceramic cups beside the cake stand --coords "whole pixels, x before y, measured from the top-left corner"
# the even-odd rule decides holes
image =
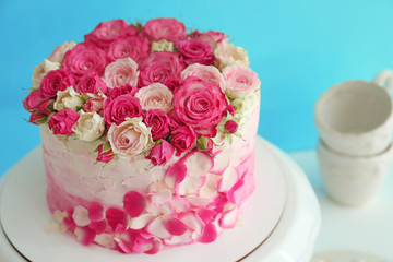
[[[318,158],[329,195],[338,203],[366,203],[389,174],[393,160],[393,72],[374,82],[332,86],[315,105]]]

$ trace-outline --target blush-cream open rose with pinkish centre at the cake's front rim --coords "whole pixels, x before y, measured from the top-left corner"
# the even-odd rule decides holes
[[[119,126],[110,126],[108,140],[115,154],[135,156],[148,150],[152,134],[142,118],[127,118]]]

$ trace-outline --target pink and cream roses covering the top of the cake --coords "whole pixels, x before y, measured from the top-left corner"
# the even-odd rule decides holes
[[[240,135],[260,80],[247,51],[221,32],[187,32],[176,19],[99,23],[34,68],[29,122],[96,143],[97,162],[144,157],[163,165],[211,154]]]

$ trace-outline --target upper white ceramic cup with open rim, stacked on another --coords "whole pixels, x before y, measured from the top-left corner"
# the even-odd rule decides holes
[[[373,155],[384,151],[393,132],[393,72],[382,71],[374,82],[347,81],[329,88],[318,100],[315,124],[334,151]]]

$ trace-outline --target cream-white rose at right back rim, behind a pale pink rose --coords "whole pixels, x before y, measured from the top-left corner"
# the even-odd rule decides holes
[[[234,63],[245,67],[250,64],[247,51],[241,47],[234,46],[231,43],[218,43],[214,49],[214,56],[219,60],[223,68]]]

